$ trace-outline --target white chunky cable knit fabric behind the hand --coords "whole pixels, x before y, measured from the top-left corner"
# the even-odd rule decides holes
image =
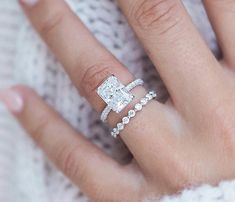
[[[219,55],[214,33],[200,0],[184,0],[193,22],[214,54]],[[68,0],[96,38],[160,99],[168,96],[153,65],[129,28],[115,1]],[[53,8],[51,8],[53,9]],[[79,96],[59,62],[35,33],[16,0],[0,1],[0,87],[26,84],[35,89],[73,127],[120,162],[130,154],[123,143],[109,136],[99,115]],[[63,92],[63,94],[61,93]],[[0,105],[0,201],[86,202],[89,201],[58,171]],[[157,201],[149,198],[146,201]],[[167,196],[162,202],[233,202],[235,182],[217,187],[202,185]]]

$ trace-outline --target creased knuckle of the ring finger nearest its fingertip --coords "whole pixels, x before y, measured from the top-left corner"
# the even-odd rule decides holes
[[[40,34],[46,37],[63,22],[65,16],[64,12],[58,10],[49,17],[45,17],[39,25]]]

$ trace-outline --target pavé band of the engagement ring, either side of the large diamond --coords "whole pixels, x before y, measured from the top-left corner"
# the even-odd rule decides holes
[[[144,81],[142,79],[136,79],[134,81],[132,81],[131,83],[129,83],[126,87],[125,90],[127,92],[131,91],[132,89],[134,89],[137,86],[142,86],[144,84]],[[111,112],[112,108],[107,105],[104,110],[101,113],[100,119],[105,122],[108,118],[109,113]]]

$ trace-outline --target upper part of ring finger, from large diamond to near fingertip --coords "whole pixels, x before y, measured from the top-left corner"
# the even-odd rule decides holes
[[[64,0],[39,0],[34,6],[20,2],[73,83],[96,110],[101,111],[104,103],[95,90],[107,76],[114,74],[123,83],[133,80],[128,70],[98,43]]]

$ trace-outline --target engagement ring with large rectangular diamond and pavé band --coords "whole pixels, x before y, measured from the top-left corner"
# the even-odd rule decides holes
[[[136,79],[125,87],[115,76],[105,80],[97,89],[98,95],[107,104],[100,119],[105,122],[111,110],[120,113],[134,99],[130,91],[143,84],[143,80]]]

